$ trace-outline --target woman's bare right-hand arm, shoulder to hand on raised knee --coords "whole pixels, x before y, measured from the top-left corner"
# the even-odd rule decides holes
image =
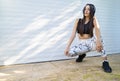
[[[99,25],[96,17],[94,17],[93,24],[94,24],[94,27],[95,27],[95,35],[97,37],[97,39],[96,39],[96,50],[101,51],[103,49],[103,46],[102,46],[102,43],[101,43],[100,25]]]

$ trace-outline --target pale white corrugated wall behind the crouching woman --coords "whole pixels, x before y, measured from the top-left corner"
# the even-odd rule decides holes
[[[96,6],[107,54],[120,53],[119,0],[0,0],[0,65],[68,59],[64,48],[86,3]]]

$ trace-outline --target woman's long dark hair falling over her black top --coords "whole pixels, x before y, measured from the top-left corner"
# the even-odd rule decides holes
[[[86,6],[89,5],[90,6],[90,23],[89,23],[89,31],[90,31],[90,35],[91,37],[93,36],[93,17],[94,17],[94,14],[95,14],[95,6],[93,4],[86,4]],[[83,8],[83,15],[85,13],[85,8],[86,6]],[[83,35],[83,29],[84,29],[84,23],[85,23],[85,16],[83,16],[82,19],[79,19],[79,22],[78,22],[78,27],[77,27],[77,31],[80,33],[80,35],[82,36]]]

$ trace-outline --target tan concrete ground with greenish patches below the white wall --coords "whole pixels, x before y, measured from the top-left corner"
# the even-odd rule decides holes
[[[0,66],[0,81],[120,81],[120,54],[108,59],[112,73],[102,70],[100,57]]]

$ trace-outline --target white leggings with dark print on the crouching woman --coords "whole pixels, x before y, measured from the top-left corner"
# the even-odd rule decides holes
[[[102,40],[101,42],[103,44]],[[96,50],[96,38],[93,36],[92,38],[89,38],[89,39],[80,40],[78,45],[70,48],[69,56],[73,57],[77,55],[82,55],[87,52],[95,51],[95,50]],[[104,47],[103,47],[103,50],[101,51],[101,54],[103,57],[107,56],[107,54],[105,53]]]

